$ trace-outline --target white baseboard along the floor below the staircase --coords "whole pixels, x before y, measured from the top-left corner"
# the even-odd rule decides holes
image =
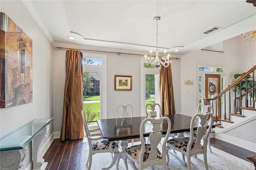
[[[241,148],[251,150],[252,152],[256,152],[256,143],[248,142],[246,140],[235,138],[233,136],[229,136],[226,134],[216,134],[215,138],[223,140],[223,141],[231,143],[231,144],[234,144]]]

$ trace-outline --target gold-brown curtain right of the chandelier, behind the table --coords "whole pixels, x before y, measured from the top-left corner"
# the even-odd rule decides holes
[[[160,67],[160,105],[162,115],[175,114],[173,84],[172,84],[172,67]]]

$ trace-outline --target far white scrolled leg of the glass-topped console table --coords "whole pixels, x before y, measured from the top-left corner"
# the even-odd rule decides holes
[[[34,139],[33,139],[33,170],[45,170],[48,162],[44,162],[44,158],[39,158],[39,146],[43,138],[47,137],[49,125],[46,126]]]

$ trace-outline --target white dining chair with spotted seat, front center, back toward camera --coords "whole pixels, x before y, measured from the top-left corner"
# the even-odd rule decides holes
[[[144,125],[150,121],[152,123],[152,132],[150,132],[149,140],[150,144],[144,142]],[[162,150],[158,149],[162,139],[161,127],[167,128],[166,136],[162,144]],[[166,170],[166,142],[171,131],[171,121],[168,117],[158,118],[146,118],[140,124],[140,141],[141,144],[130,146],[125,150],[124,164],[126,170],[128,170],[127,159],[132,163],[133,168],[136,168],[135,164],[138,165],[138,169],[142,170],[148,166],[162,165],[162,169]]]

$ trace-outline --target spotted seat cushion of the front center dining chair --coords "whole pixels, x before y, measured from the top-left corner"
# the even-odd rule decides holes
[[[127,152],[132,158],[134,158],[137,162],[139,162],[140,158],[140,150],[141,150],[141,144],[130,146],[126,148],[125,152]],[[148,160],[148,155],[151,150],[150,144],[145,144],[145,152],[143,156],[143,162]],[[161,152],[157,149],[157,158],[162,159],[162,154]]]

